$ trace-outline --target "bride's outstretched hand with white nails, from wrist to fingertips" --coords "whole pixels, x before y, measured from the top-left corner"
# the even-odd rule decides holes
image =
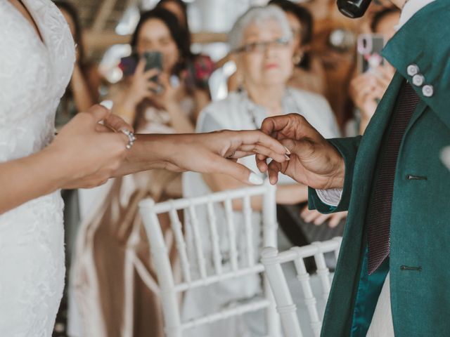
[[[261,131],[217,131],[169,136],[165,147],[165,168],[171,171],[224,173],[243,183],[259,185],[261,178],[238,164],[239,158],[263,154],[278,162],[288,160],[286,149]]]

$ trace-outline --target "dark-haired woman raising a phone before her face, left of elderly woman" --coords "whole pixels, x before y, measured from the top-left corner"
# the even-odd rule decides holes
[[[199,89],[187,81],[191,51],[176,16],[164,8],[143,13],[131,47],[138,64],[134,74],[122,81],[119,92],[113,92],[113,112],[138,128],[152,124],[148,132],[193,131],[195,116],[207,99],[199,102]],[[143,55],[148,52],[162,55],[162,70],[145,70]],[[149,81],[152,78],[158,79]]]

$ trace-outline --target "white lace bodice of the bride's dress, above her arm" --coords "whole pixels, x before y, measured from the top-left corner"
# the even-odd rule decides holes
[[[49,0],[24,1],[34,27],[0,0],[0,162],[41,150],[72,74],[75,48],[63,15]]]

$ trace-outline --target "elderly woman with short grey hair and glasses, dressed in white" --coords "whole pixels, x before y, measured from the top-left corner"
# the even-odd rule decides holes
[[[236,54],[238,68],[243,75],[243,88],[219,102],[205,107],[197,123],[197,131],[216,131],[222,128],[257,129],[264,118],[278,114],[302,114],[316,127],[324,137],[339,136],[333,112],[326,100],[315,93],[288,88],[287,83],[293,72],[293,33],[285,13],[276,6],[250,8],[234,25],[229,34],[229,43]],[[245,166],[258,171],[255,158],[241,161]],[[262,176],[263,177],[263,176]],[[299,185],[287,176],[281,176],[276,192],[278,204],[297,204],[307,200],[307,187]],[[244,185],[237,180],[219,174],[200,175],[185,173],[183,178],[184,195],[193,197],[212,191],[228,190]],[[262,200],[252,199],[252,208],[261,209]],[[234,204],[236,220],[236,237],[243,237],[242,214],[240,204]],[[218,207],[219,208],[219,207]],[[217,219],[223,210],[217,209]],[[207,218],[198,212],[198,221],[207,233]],[[255,233],[260,232],[259,218],[254,216]],[[226,249],[226,225],[219,223],[221,249]],[[220,231],[223,231],[220,233]],[[188,235],[188,241],[191,239]],[[258,257],[259,241],[255,238],[255,260]],[[204,246],[206,255],[209,246]],[[245,244],[238,242],[238,249],[245,251]],[[226,256],[226,254],[224,254]],[[224,264],[226,265],[226,261]],[[260,291],[257,277],[245,277],[239,282],[224,282],[210,287],[209,291],[189,291],[184,298],[185,318],[196,317],[200,313],[214,312],[224,305],[245,300]],[[226,319],[214,324],[214,331],[205,328],[193,330],[195,336],[259,336],[264,335],[262,316],[245,315],[240,319]],[[260,331],[263,330],[263,331]]]

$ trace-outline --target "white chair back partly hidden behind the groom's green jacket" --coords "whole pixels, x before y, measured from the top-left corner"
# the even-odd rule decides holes
[[[304,336],[302,331],[305,333],[305,330],[312,331],[314,336],[320,336],[323,310],[318,310],[317,307],[318,291],[316,288],[320,289],[321,300],[326,302],[330,293],[330,278],[333,275],[330,275],[324,253],[334,253],[337,259],[341,239],[341,237],[335,237],[324,242],[313,242],[307,246],[293,247],[282,253],[278,253],[274,247],[266,247],[262,251],[261,261],[275,297],[276,310],[281,317],[281,326],[283,326],[285,337],[302,337]],[[304,258],[309,257],[314,257],[317,267],[315,274],[311,277],[304,264]],[[297,312],[297,305],[290,291],[292,283],[288,282],[285,270],[283,270],[283,267],[287,266],[282,267],[283,263],[288,262],[294,263],[296,285],[298,284],[302,289],[302,300],[306,305],[306,309],[302,313]],[[304,315],[308,316],[306,320],[309,321],[310,326],[300,327],[299,318],[303,318],[302,321],[304,321]]]

